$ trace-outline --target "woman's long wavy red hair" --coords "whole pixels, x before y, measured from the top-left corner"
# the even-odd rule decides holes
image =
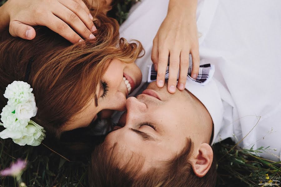
[[[24,80],[27,64],[32,62],[27,81],[33,88],[38,107],[32,119],[47,133],[59,137],[61,127],[81,112],[93,98],[96,86],[112,59],[131,63],[143,50],[141,44],[119,38],[119,24],[101,10],[106,4],[91,8],[95,13],[96,40],[83,44],[70,42],[44,26],[34,27],[31,40],[12,37],[7,31],[0,38],[0,108],[7,104],[3,93],[14,80]],[[50,134],[49,134],[50,135]],[[47,135],[48,136],[48,135]]]

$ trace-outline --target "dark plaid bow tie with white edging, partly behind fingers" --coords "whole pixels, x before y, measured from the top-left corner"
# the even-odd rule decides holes
[[[192,67],[190,67],[188,69],[187,79],[190,79],[190,80],[194,81],[195,83],[203,85],[203,86],[206,85],[214,75],[214,65],[210,65],[210,64],[204,64],[204,65],[199,66],[199,74],[197,76],[197,79],[193,79],[190,76],[191,70],[192,70]],[[156,77],[157,77],[157,72],[154,69],[154,65],[150,65],[147,82],[151,83],[151,82],[155,81]],[[168,78],[169,78],[169,65],[167,66],[166,74],[165,74],[165,79],[168,79]],[[178,79],[179,79],[179,73],[178,73]]]

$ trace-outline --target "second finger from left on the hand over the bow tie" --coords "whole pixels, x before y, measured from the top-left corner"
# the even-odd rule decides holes
[[[168,80],[168,91],[175,93],[177,76],[180,68],[180,50],[170,51],[170,65],[169,65],[169,80]]]

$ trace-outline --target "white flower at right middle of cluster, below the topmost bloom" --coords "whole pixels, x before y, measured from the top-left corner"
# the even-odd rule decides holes
[[[26,103],[17,104],[16,108],[17,119],[30,119],[37,113],[37,107],[34,96],[29,98]]]

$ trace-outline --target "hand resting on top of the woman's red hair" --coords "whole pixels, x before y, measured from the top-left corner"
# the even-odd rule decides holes
[[[82,0],[8,0],[5,4],[12,36],[32,40],[36,35],[32,26],[42,25],[71,43],[95,38],[93,17]]]

